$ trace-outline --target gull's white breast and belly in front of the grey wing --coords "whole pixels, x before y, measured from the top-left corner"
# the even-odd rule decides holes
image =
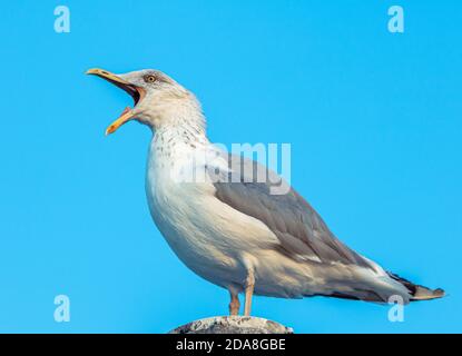
[[[276,237],[259,220],[218,200],[210,181],[181,181],[178,175],[190,164],[185,157],[151,152],[146,192],[153,219],[196,274],[224,287],[240,285],[246,278],[243,255],[276,243]]]

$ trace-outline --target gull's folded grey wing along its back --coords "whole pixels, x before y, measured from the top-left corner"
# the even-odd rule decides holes
[[[216,197],[264,222],[279,239],[283,253],[293,258],[374,269],[367,259],[342,244],[292,187],[287,186],[285,194],[272,194],[272,187],[286,184],[274,171],[246,158],[223,155],[230,170],[209,172],[214,176]],[[262,179],[263,176],[266,179]]]

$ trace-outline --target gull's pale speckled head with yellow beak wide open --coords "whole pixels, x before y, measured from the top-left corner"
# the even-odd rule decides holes
[[[120,117],[106,129],[106,135],[137,120],[153,129],[163,126],[191,125],[203,128],[204,119],[196,97],[159,70],[144,69],[124,75],[94,68],[87,75],[98,76],[125,90],[134,99]]]

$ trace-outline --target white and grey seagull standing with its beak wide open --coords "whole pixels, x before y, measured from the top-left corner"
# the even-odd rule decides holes
[[[154,222],[188,268],[229,291],[230,315],[239,314],[239,294],[245,316],[253,295],[403,305],[444,296],[348,248],[276,172],[212,144],[199,101],[169,76],[153,69],[87,73],[132,97],[134,108],[106,135],[130,120],[151,129],[146,195]]]

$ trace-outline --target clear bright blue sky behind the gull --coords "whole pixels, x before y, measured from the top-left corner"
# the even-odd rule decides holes
[[[401,4],[405,33],[387,31]],[[53,31],[53,9],[71,32]],[[227,313],[151,222],[150,132],[105,138],[131,99],[91,67],[160,69],[214,141],[291,142],[292,182],[334,233],[443,287],[405,308],[256,297],[298,333],[462,332],[460,1],[7,1],[0,21],[0,332],[164,333]],[[71,322],[53,320],[53,298]]]

